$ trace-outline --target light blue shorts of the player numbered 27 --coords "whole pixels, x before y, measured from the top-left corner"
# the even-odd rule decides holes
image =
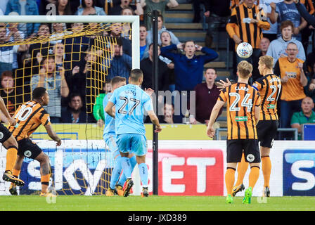
[[[118,134],[116,137],[118,149],[122,153],[134,153],[137,156],[148,153],[146,136],[141,134]]]

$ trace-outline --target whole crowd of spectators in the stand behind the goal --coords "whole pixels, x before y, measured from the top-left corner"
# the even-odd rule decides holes
[[[200,11],[200,4],[205,12]],[[310,15],[315,13],[311,0],[302,0],[298,7],[304,7]],[[259,56],[274,58],[274,71],[281,77],[283,89],[278,112],[281,127],[297,127],[297,114],[306,117],[306,122],[314,122],[315,116],[315,47],[309,46],[309,37],[314,35],[314,27],[307,23],[293,0],[199,0],[193,1],[195,18],[193,23],[200,23],[204,17],[208,23],[205,46],[198,46],[194,41],[181,43],[174,33],[167,30],[165,10],[179,5],[176,0],[3,0],[0,3],[0,15],[47,15],[51,7],[56,7],[57,15],[141,15],[140,56],[144,80],[142,88],[153,88],[152,71],[153,48],[152,31],[148,12],[160,11],[158,17],[159,86],[162,91],[196,91],[196,110],[187,115],[192,124],[207,124],[213,105],[219,96],[219,89],[214,84],[217,70],[205,70],[204,65],[218,58],[218,53],[211,49],[213,39],[219,27],[226,27],[233,48],[233,72],[230,79],[236,80],[236,66],[243,60],[236,54],[236,46],[248,42],[253,47],[252,56],[246,60],[253,65],[250,83],[259,75]],[[13,115],[15,103],[30,100],[32,89],[37,86],[56,85],[48,89],[51,105],[48,113],[53,122],[97,122],[103,126],[102,99],[110,92],[110,86],[103,84],[102,93],[96,98],[86,100],[86,79],[98,76],[91,71],[96,68],[96,55],[93,52],[95,37],[71,37],[62,39],[71,32],[84,29],[98,29],[97,24],[88,23],[19,23],[0,24],[0,44],[38,37],[51,39],[37,44],[0,47],[1,96]],[[113,24],[110,32],[104,35],[117,39],[113,58],[106,82],[119,75],[127,79],[131,70],[130,25]],[[196,54],[197,51],[201,53]],[[103,62],[108,63],[108,62]],[[32,76],[25,76],[32,75]],[[29,84],[29,85],[22,85]],[[19,88],[15,88],[19,86]],[[23,95],[24,94],[24,95]],[[309,98],[307,98],[309,97]],[[189,92],[188,92],[189,99]],[[87,101],[93,101],[93,114],[85,113]],[[301,105],[309,103],[311,113],[304,113]],[[49,107],[54,106],[54,107]],[[211,106],[211,107],[210,107]],[[174,115],[174,104],[165,104],[163,122],[183,122]],[[221,113],[221,112],[220,112]],[[185,115],[184,115],[185,114]],[[179,120],[178,120],[179,119]]]

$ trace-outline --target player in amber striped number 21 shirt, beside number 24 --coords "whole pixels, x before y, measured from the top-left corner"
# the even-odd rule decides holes
[[[263,76],[252,85],[262,98],[259,122],[257,124],[258,141],[260,142],[260,155],[262,158],[262,173],[264,174],[264,196],[270,196],[270,174],[271,161],[269,158],[270,149],[274,143],[274,138],[278,130],[277,103],[281,94],[281,78],[274,75],[274,58],[271,56],[261,56],[258,62],[259,73]],[[231,85],[230,82],[222,82],[221,88]],[[243,179],[248,169],[248,162],[245,162],[244,155],[238,164],[238,179],[233,187],[232,195],[245,189]]]

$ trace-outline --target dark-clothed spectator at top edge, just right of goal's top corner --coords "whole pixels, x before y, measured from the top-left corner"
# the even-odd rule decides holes
[[[148,16],[148,13],[153,11],[159,11],[162,17],[165,17],[165,8],[166,6],[168,8],[175,8],[179,4],[176,0],[141,0],[141,6],[142,8],[146,9],[144,10],[144,23],[148,30],[151,29],[151,18]]]

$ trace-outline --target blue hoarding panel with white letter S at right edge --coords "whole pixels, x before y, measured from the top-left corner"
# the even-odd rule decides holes
[[[283,152],[283,195],[315,196],[315,150]]]

